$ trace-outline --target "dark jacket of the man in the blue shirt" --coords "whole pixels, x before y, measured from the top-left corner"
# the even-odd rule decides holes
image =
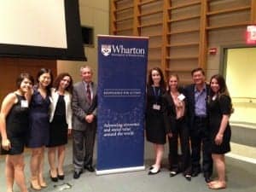
[[[207,98],[210,95],[210,85],[207,85]],[[185,96],[187,97],[188,102],[188,122],[189,122],[189,129],[193,129],[194,119],[195,119],[195,84],[189,84],[185,87]],[[207,106],[207,98],[206,98],[206,106]],[[208,114],[208,109],[207,109]]]

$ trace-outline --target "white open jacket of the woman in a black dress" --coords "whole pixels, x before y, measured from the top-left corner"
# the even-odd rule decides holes
[[[55,115],[55,108],[59,99],[59,94],[58,92],[52,88],[50,90],[51,92],[51,103],[49,106],[49,122],[52,122],[54,115]],[[64,93],[64,101],[65,101],[65,107],[66,107],[66,122],[67,122],[67,127],[68,129],[72,129],[72,108],[71,108],[71,99],[72,96],[71,94],[65,90]]]

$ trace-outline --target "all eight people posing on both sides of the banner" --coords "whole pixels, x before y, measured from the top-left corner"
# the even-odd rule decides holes
[[[30,74],[21,73],[16,80],[17,90],[3,99],[1,154],[7,154],[8,192],[13,191],[14,182],[21,192],[27,192],[25,146],[32,151],[32,189],[47,187],[43,177],[45,148],[48,148],[50,179],[52,182],[64,179],[65,145],[71,132],[73,178],[79,178],[84,169],[95,171],[92,160],[96,137],[96,84],[92,82],[89,66],[81,67],[80,75],[82,81],[73,85],[70,74],[60,73],[53,81],[51,71],[42,68],[34,84]],[[203,172],[209,188],[223,189],[226,187],[224,154],[230,151],[231,99],[222,76],[212,76],[207,84],[202,68],[195,68],[191,75],[194,84],[180,87],[177,74],[170,75],[166,85],[159,67],[148,73],[145,129],[155,151],[155,162],[148,174],[160,172],[167,138],[170,177],[183,172],[184,177],[191,180]],[[178,154],[179,143],[181,155]],[[211,180],[212,160],[218,172],[216,180]]]

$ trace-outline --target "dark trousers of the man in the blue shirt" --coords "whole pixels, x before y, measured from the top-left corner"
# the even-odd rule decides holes
[[[207,118],[195,117],[194,125],[190,130],[190,140],[192,172],[201,172],[200,160],[202,150],[202,171],[205,176],[210,177],[212,175],[212,153]]]

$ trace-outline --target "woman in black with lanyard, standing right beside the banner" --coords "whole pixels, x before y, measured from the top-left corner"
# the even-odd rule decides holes
[[[150,167],[148,175],[160,172],[160,164],[166,143],[166,127],[164,113],[166,110],[164,93],[166,84],[160,68],[154,67],[148,73],[147,108],[146,108],[146,137],[154,144],[155,162]]]

